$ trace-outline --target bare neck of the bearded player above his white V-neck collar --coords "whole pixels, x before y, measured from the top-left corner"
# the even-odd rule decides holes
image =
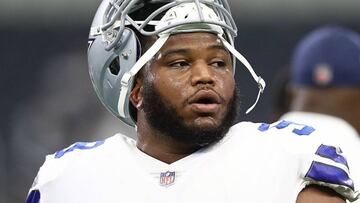
[[[142,119],[138,118],[139,120]],[[200,148],[162,135],[149,126],[147,122],[138,122],[136,147],[149,156],[167,164],[180,160]]]

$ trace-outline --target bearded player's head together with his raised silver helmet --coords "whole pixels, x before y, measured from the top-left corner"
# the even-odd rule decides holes
[[[233,47],[236,33],[226,0],[104,0],[90,32],[92,83],[103,104],[131,126],[164,131],[153,122],[160,116],[184,132],[219,130],[234,117],[236,58],[265,87]],[[173,58],[179,61],[170,64]]]

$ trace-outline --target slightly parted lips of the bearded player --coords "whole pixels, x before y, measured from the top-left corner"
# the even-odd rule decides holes
[[[189,99],[193,111],[201,114],[213,114],[218,111],[220,96],[213,90],[200,90]]]

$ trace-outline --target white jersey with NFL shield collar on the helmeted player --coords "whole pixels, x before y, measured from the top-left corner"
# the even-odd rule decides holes
[[[172,164],[117,134],[48,155],[27,203],[295,203],[308,184],[355,199],[339,148],[312,127],[239,123],[213,146]]]

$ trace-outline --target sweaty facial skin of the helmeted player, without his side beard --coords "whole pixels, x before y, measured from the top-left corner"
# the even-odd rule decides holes
[[[161,59],[152,64],[155,88],[188,125],[219,125],[235,82],[230,55],[217,37],[208,33],[175,35],[160,54]],[[214,97],[216,102],[202,105],[193,101],[201,96]]]

